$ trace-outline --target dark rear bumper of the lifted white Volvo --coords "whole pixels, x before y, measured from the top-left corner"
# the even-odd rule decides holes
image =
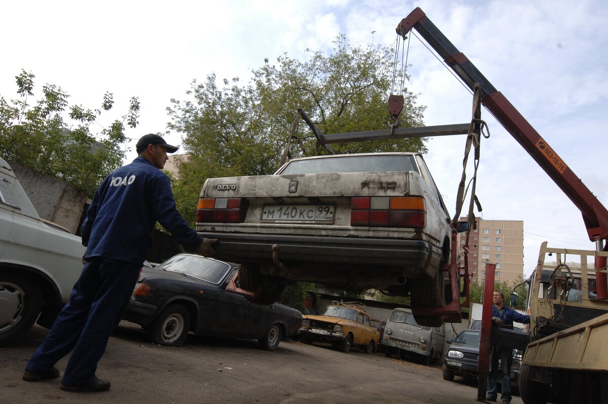
[[[213,245],[219,259],[237,262],[272,261],[272,247],[278,245],[278,258],[300,268],[326,265],[333,268],[394,267],[406,276],[434,276],[441,259],[441,248],[412,239],[358,237],[289,236],[252,233],[199,231],[205,238],[216,238]]]

